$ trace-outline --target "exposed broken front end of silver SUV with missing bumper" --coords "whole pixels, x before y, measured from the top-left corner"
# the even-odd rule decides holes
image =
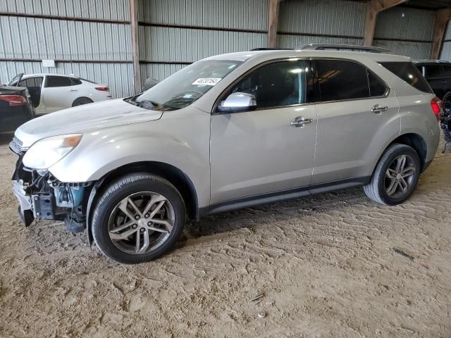
[[[18,212],[25,227],[36,218],[63,220],[69,232],[82,232],[86,224],[86,205],[91,182],[60,182],[48,170],[25,168],[25,151],[11,150],[19,159],[11,178]]]

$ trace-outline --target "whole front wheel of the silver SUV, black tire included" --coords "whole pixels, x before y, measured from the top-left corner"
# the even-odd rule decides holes
[[[132,207],[130,201],[136,208]],[[155,201],[154,204],[152,201]],[[144,215],[149,205],[155,208],[149,209]],[[158,206],[159,214],[152,216]],[[163,219],[162,215],[166,215],[167,219]],[[137,220],[138,217],[141,218]],[[149,230],[148,225],[152,225],[152,230]],[[109,184],[101,192],[92,214],[95,244],[106,257],[125,264],[143,263],[161,257],[177,242],[184,226],[185,204],[178,190],[162,177],[148,173],[125,175]],[[156,229],[159,230],[154,231]],[[130,235],[123,238],[127,234]],[[142,251],[146,245],[144,237],[148,238],[147,251]],[[159,239],[163,239],[163,242],[157,242]]]

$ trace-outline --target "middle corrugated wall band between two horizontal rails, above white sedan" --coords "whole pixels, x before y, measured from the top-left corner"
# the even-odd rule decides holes
[[[0,15],[0,58],[130,60],[130,26]],[[20,34],[18,34],[20,32]]]

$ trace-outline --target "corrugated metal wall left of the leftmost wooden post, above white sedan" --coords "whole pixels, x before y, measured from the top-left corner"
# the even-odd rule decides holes
[[[0,82],[24,71],[75,74],[110,84],[113,96],[133,93],[128,1],[0,0],[0,12],[18,13],[0,15],[0,58],[24,59],[0,61]],[[42,59],[59,62],[43,68]]]

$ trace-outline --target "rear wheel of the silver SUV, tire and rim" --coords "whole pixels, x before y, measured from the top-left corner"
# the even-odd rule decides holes
[[[405,168],[405,171],[403,170],[403,173],[400,173],[396,170],[396,166],[399,159],[402,161],[402,156],[405,156],[406,158],[404,163],[406,167],[403,167]],[[400,179],[399,175],[403,176],[411,173],[411,171],[408,170],[412,167],[414,167],[414,173]],[[396,204],[401,204],[406,201],[412,192],[414,192],[420,174],[421,162],[415,149],[405,144],[392,144],[379,160],[378,165],[373,172],[373,176],[371,177],[371,181],[364,186],[364,192],[366,196],[373,201],[388,206],[395,206]],[[388,175],[390,175],[390,177],[388,177]],[[396,183],[393,184],[393,180],[399,182],[396,187]],[[402,182],[402,180],[404,180],[404,182]],[[406,189],[404,189],[404,183],[408,184]]]

